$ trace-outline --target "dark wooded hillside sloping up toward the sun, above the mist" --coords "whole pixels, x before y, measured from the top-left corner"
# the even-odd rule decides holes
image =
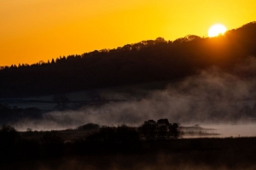
[[[175,81],[212,65],[233,71],[234,65],[248,56],[256,56],[255,22],[219,37],[189,35],[173,42],[159,37],[47,63],[7,66],[0,70],[0,98]]]

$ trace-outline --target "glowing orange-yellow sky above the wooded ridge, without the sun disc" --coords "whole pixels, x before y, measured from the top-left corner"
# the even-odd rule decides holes
[[[0,0],[0,65],[32,64],[156,37],[207,37],[256,20],[255,0]]]

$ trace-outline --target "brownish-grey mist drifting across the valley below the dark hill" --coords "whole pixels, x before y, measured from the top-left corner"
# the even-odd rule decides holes
[[[256,60],[247,59],[234,68],[236,75],[212,68],[165,90],[148,91],[141,99],[128,94],[103,94],[126,99],[101,106],[84,106],[79,111],[52,111],[42,120],[23,120],[14,126],[18,130],[53,130],[78,127],[88,122],[100,125],[139,126],[149,119],[167,118],[181,125],[200,124],[215,128],[221,137],[256,136]],[[128,96],[128,97],[127,97]]]

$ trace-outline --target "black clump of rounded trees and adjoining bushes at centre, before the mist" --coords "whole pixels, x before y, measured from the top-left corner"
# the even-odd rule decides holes
[[[100,127],[95,133],[86,137],[89,142],[108,143],[132,143],[139,140],[156,141],[178,139],[180,132],[177,123],[170,123],[168,119],[160,119],[157,122],[148,120],[140,127]]]

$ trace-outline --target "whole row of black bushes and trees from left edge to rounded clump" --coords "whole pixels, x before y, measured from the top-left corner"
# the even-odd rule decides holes
[[[72,133],[69,133],[69,132]],[[138,151],[144,142],[170,141],[180,138],[177,123],[169,123],[167,119],[157,122],[148,120],[139,127],[102,126],[87,123],[76,129],[67,129],[66,139],[79,132],[86,132],[79,138],[63,139],[63,131],[17,132],[10,125],[0,127],[0,161],[5,159],[21,159],[63,156],[65,150],[71,154],[95,154]],[[62,133],[62,135],[61,135]]]

